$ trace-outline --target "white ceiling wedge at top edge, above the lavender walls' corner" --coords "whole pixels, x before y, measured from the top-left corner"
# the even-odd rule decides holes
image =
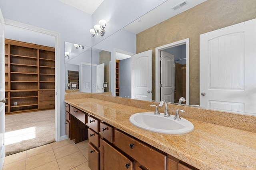
[[[104,0],[59,0],[59,1],[92,15]]]

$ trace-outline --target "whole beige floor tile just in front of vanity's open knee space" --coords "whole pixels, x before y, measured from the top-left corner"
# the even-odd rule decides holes
[[[72,154],[74,152],[78,152],[79,149],[73,143],[73,144],[69,144],[69,145],[66,145],[66,146],[62,146],[60,148],[56,148],[53,151],[54,151],[54,154],[56,156],[56,159],[59,159],[59,158],[62,158],[64,156],[67,156],[69,154]]]

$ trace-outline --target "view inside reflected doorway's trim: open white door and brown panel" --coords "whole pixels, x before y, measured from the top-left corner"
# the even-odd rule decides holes
[[[162,50],[161,57],[161,101],[178,103],[186,99],[186,44]]]

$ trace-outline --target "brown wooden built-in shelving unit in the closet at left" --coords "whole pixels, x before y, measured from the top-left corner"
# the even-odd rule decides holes
[[[54,108],[54,51],[52,47],[5,40],[6,113]]]

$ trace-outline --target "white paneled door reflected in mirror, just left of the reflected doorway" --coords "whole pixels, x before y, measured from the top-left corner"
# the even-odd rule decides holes
[[[132,98],[152,100],[152,49],[133,55]]]

